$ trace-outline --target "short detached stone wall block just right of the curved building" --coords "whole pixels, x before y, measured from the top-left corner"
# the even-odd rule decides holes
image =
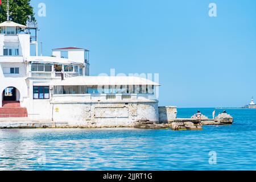
[[[160,123],[168,123],[170,121],[174,121],[177,117],[177,107],[174,106],[166,106],[166,107],[158,107],[159,110],[159,122]]]

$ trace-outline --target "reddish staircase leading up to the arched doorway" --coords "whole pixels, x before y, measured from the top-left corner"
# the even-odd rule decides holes
[[[27,108],[20,107],[19,101],[3,101],[0,118],[27,118]]]

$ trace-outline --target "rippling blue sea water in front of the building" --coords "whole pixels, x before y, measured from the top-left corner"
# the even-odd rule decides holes
[[[197,110],[212,117],[214,109],[178,117]],[[233,125],[203,131],[0,130],[0,170],[256,170],[256,110],[227,111]]]

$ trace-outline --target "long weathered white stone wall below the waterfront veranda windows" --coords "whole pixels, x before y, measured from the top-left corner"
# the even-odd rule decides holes
[[[158,102],[58,103],[53,106],[53,121],[70,126],[133,126],[138,119],[159,122]]]

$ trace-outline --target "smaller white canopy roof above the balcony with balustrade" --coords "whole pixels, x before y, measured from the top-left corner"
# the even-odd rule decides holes
[[[42,64],[82,64],[70,59],[51,57],[51,56],[30,56],[27,57],[27,62],[42,63]]]

